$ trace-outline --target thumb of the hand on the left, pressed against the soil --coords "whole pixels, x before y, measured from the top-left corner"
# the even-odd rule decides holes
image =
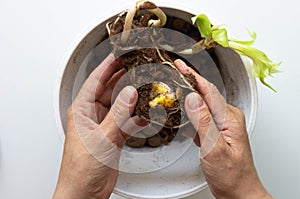
[[[120,133],[121,127],[130,118],[134,111],[135,104],[137,102],[137,91],[132,86],[125,87],[118,95],[115,103],[112,105],[110,111],[100,124],[101,129],[105,130],[105,134],[113,143],[117,143],[119,146],[125,141],[123,137],[120,140],[120,136],[116,134]],[[119,139],[119,140],[115,140]]]

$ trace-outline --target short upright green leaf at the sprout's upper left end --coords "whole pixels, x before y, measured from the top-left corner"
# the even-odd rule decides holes
[[[203,38],[212,36],[211,23],[205,14],[200,14],[192,18],[193,24],[197,24],[200,34]]]

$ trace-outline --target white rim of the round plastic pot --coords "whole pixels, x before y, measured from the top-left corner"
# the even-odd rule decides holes
[[[196,15],[195,13],[197,13],[195,10],[182,6],[181,4],[168,4],[169,2],[165,2],[165,3],[157,3],[157,5],[160,8],[165,8],[165,9],[174,9],[174,10],[178,10],[178,11],[182,11],[191,15]],[[116,13],[118,14],[118,13]],[[59,70],[57,72],[57,78],[55,81],[55,86],[54,86],[54,95],[53,95],[53,108],[54,108],[54,117],[55,117],[55,121],[56,121],[56,126],[58,128],[58,134],[60,137],[60,140],[62,143],[64,143],[65,141],[65,131],[62,125],[62,118],[60,115],[60,90],[61,90],[61,84],[62,84],[62,80],[63,80],[63,75],[65,73],[66,70],[66,66],[68,65],[74,51],[79,47],[80,43],[85,39],[85,37],[91,32],[93,31],[99,24],[103,23],[104,21],[110,19],[113,15],[108,15],[102,17],[100,20],[97,20],[96,22],[94,22],[92,25],[90,25],[85,31],[82,31],[79,36],[73,41],[73,43],[70,45],[68,51],[65,53],[65,55],[63,56],[63,60],[60,64]],[[248,136],[251,137],[254,127],[255,127],[255,123],[256,123],[256,117],[257,117],[257,109],[258,109],[258,92],[257,92],[257,84],[256,84],[256,79],[253,77],[252,72],[251,72],[251,63],[249,62],[249,60],[241,57],[242,62],[246,68],[247,71],[247,77],[249,80],[249,86],[250,86],[250,92],[251,92],[251,111],[250,111],[250,117],[249,117],[249,123],[248,123],[248,127],[247,127],[247,132],[248,132]],[[176,193],[176,194],[172,194],[172,195],[167,195],[167,196],[155,196],[155,197],[142,197],[144,199],[169,199],[169,198],[183,198],[183,197],[188,197],[191,196],[193,194],[196,194],[198,192],[203,191],[204,189],[208,188],[208,184],[205,181],[202,184],[199,184],[198,186],[194,187],[193,189],[189,189],[185,192],[182,193]],[[114,188],[113,193],[119,195],[119,196],[123,196],[123,197],[139,197],[141,198],[141,196],[138,195],[133,195],[132,193],[128,193],[126,191],[123,190],[119,190],[118,188]]]

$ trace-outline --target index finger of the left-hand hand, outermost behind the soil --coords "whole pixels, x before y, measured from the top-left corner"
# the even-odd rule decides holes
[[[86,102],[95,102],[106,88],[107,81],[118,68],[118,62],[113,54],[108,57],[90,74],[84,82],[78,97]]]

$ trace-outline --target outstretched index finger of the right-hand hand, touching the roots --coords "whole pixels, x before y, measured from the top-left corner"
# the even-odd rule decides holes
[[[219,90],[180,59],[177,59],[174,63],[182,74],[192,74],[195,76],[197,90],[203,96],[218,128],[222,129],[226,115],[226,101]]]

